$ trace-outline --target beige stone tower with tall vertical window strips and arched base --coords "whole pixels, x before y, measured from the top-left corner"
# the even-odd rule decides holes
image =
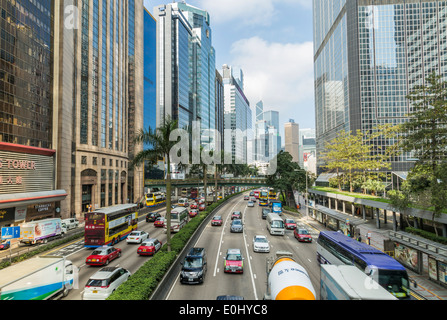
[[[67,214],[143,196],[143,169],[129,169],[135,132],[143,127],[144,7],[142,0],[77,2],[74,25],[60,1],[55,17],[59,118],[58,184]],[[69,11],[68,11],[69,12]]]

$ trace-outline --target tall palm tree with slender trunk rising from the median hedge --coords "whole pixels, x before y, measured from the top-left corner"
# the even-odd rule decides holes
[[[130,164],[132,168],[141,165],[145,160],[155,162],[159,158],[166,159],[166,244],[168,251],[171,251],[171,161],[169,152],[177,143],[177,141],[170,141],[169,137],[177,129],[177,125],[177,120],[167,116],[163,124],[155,130],[150,127],[147,130],[141,129],[135,137],[135,143],[148,144],[150,148],[137,153]]]

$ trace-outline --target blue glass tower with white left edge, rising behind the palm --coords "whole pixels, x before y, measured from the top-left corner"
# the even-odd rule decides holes
[[[201,144],[214,149],[215,52],[209,14],[186,3],[154,8],[157,20],[157,125],[200,121]]]

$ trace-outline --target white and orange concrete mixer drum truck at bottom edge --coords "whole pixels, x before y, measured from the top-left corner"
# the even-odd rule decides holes
[[[288,251],[267,259],[267,290],[264,300],[316,300],[306,269]]]

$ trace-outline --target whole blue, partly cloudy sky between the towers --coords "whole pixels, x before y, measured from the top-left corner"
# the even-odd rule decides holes
[[[172,2],[144,0],[144,5],[153,13],[155,6]],[[264,111],[278,111],[283,145],[289,119],[300,129],[315,128],[312,0],[186,3],[209,12],[216,69],[227,64],[235,77],[243,71],[253,116],[260,100]]]

